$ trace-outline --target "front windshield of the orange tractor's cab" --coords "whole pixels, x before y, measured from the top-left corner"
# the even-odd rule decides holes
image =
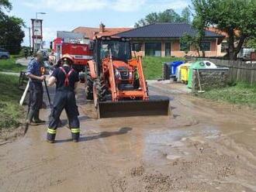
[[[110,55],[112,55],[113,60],[130,60],[130,43],[117,40],[102,41],[100,49],[101,60]]]

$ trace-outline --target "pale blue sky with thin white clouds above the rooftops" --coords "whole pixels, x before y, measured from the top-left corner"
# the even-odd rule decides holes
[[[10,0],[12,12],[31,26],[30,19],[36,12],[43,19],[43,40],[47,45],[56,37],[57,30],[71,31],[78,26],[133,27],[137,20],[150,12],[175,9],[180,13],[189,5],[190,0]],[[28,29],[23,45],[29,45]]]

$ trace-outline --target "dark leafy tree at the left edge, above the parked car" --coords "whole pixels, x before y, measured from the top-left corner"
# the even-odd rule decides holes
[[[8,0],[0,0],[0,46],[10,53],[19,53],[25,36],[22,31],[24,22],[15,16],[5,15],[4,10],[10,11],[12,4]]]

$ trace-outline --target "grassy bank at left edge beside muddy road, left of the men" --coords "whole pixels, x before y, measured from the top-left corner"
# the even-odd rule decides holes
[[[20,125],[23,110],[19,106],[22,91],[18,89],[18,78],[0,74],[0,133],[3,129],[17,128]]]

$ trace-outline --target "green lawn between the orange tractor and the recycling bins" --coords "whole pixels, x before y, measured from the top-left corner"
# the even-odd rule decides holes
[[[147,80],[161,79],[163,76],[163,63],[174,60],[185,60],[178,57],[143,57],[144,74]]]

